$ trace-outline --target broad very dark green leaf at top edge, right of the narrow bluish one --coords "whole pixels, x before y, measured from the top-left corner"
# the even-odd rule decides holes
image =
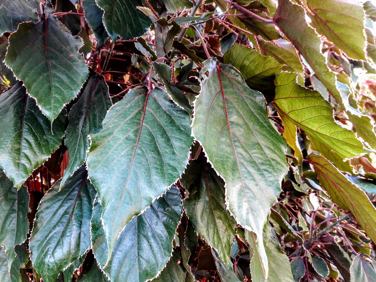
[[[137,6],[140,0],[97,0],[97,4],[105,11],[103,23],[113,41],[118,35],[123,40],[143,35],[152,21]]]

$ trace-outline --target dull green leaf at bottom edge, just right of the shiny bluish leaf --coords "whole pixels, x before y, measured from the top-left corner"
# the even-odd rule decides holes
[[[186,272],[182,268],[178,261],[180,258],[179,253],[174,250],[170,261],[167,262],[166,267],[162,270],[158,277],[152,280],[152,282],[178,282],[185,281]]]

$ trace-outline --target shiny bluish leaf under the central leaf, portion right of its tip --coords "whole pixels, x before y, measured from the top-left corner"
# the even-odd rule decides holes
[[[133,217],[104,268],[112,281],[143,282],[164,268],[182,208],[179,189],[173,186],[143,214]]]

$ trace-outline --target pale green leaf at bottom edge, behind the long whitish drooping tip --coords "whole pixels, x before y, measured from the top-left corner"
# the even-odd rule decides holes
[[[268,257],[268,274],[265,271],[265,266],[260,257],[258,246],[253,240],[254,235],[246,230],[246,239],[253,249],[253,257],[250,262],[252,281],[267,281],[267,282],[293,282],[293,274],[291,273],[290,261],[284,252],[281,251],[278,242],[274,238],[270,238],[268,243],[265,243],[265,250]],[[248,240],[251,238],[250,240]],[[266,238],[264,237],[264,241]]]

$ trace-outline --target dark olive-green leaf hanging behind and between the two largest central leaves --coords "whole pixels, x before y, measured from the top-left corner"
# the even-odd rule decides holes
[[[190,161],[180,182],[189,192],[183,204],[196,232],[218,250],[228,267],[232,267],[230,250],[236,221],[226,209],[224,181],[201,153]]]

